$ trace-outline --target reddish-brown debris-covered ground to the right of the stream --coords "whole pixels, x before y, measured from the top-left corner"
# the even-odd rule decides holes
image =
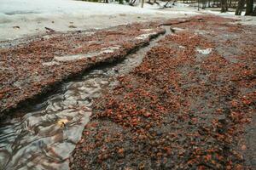
[[[256,27],[201,17],[171,25],[94,102],[71,169],[254,169]]]

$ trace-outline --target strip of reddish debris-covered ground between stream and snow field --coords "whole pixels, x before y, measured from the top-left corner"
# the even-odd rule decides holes
[[[102,31],[58,34],[2,42],[0,117],[26,107],[60,83],[95,65],[112,63],[165,32],[158,23],[115,26]]]

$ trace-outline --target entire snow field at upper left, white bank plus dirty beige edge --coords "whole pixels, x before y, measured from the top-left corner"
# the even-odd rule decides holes
[[[0,0],[0,41],[55,31],[97,29],[135,21],[149,21],[198,14],[195,9],[160,8],[145,3],[129,5],[73,0]]]

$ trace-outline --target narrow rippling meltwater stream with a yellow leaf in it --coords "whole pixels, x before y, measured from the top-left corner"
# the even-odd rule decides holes
[[[166,26],[166,34],[170,34]],[[68,157],[89,122],[94,99],[117,85],[116,77],[139,65],[150,44],[125,60],[64,83],[58,93],[31,105],[26,114],[0,124],[0,169],[68,169]]]

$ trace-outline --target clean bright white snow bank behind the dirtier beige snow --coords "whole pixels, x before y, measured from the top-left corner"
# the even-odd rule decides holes
[[[154,14],[148,8],[129,5],[90,3],[72,0],[0,0],[0,13],[14,14]],[[147,5],[145,5],[147,6]],[[159,13],[163,13],[158,11]],[[164,12],[165,13],[165,12]]]

